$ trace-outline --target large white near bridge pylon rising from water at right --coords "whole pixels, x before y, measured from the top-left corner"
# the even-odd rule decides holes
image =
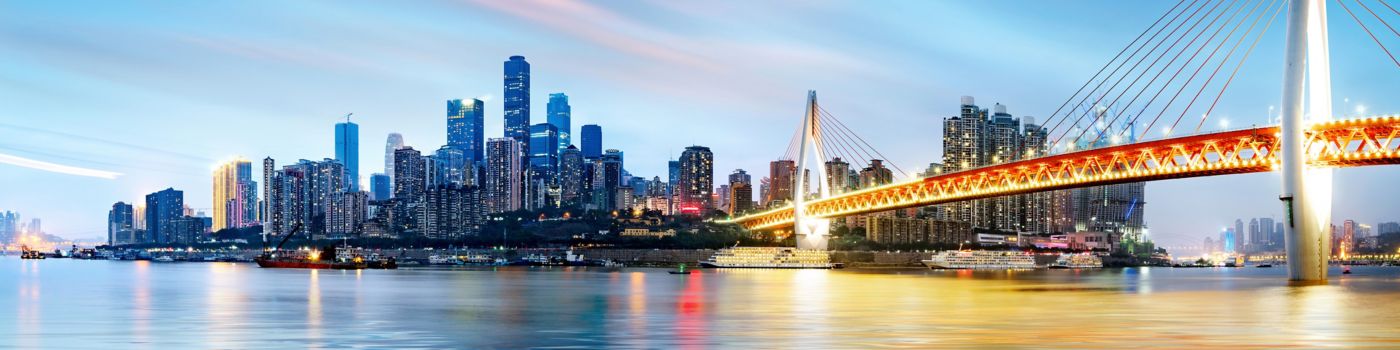
[[[1292,0],[1287,21],[1280,116],[1284,193],[1280,199],[1284,204],[1288,279],[1324,283],[1327,256],[1331,253],[1331,169],[1308,167],[1310,150],[1303,148],[1303,132],[1310,122],[1331,119],[1326,1]]]

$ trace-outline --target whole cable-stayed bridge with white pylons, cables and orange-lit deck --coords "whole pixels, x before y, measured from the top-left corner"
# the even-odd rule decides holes
[[[1200,6],[1197,6],[1198,3]],[[797,234],[798,248],[826,249],[830,220],[846,216],[1113,183],[1280,172],[1284,178],[1284,186],[1281,189],[1282,195],[1278,197],[1282,202],[1282,217],[1285,218],[1289,279],[1298,281],[1326,280],[1327,255],[1330,253],[1331,169],[1400,164],[1400,140],[1397,140],[1400,137],[1400,116],[1389,115],[1333,120],[1324,0],[1260,0],[1253,1],[1253,6],[1247,0],[1243,3],[1231,0],[1228,4],[1224,0],[1214,1],[1214,4],[1211,0],[1191,0],[1189,4],[1184,0],[1177,3],[1176,7],[1158,18],[1152,27],[1138,35],[1138,39],[1128,43],[1127,48],[1119,52],[1119,56],[1099,70],[1099,74],[1089,78],[1075,95],[1061,105],[1061,111],[1070,112],[1061,115],[1061,111],[1056,111],[1051,119],[1057,116],[1061,119],[1049,133],[1053,136],[1058,132],[1058,137],[1054,140],[1047,137],[1044,140],[1046,151],[1036,154],[1039,157],[1025,157],[1023,160],[923,176],[846,193],[832,193],[827,189],[827,183],[816,181],[816,193],[811,193],[808,189],[809,183],[805,183],[806,176],[802,174],[806,174],[808,169],[815,171],[818,179],[826,179],[827,175],[823,167],[809,167],[808,158],[815,158],[819,162],[827,161],[830,160],[827,155],[833,151],[840,151],[841,144],[864,143],[864,140],[851,140],[850,134],[840,134],[843,129],[847,132],[848,129],[826,113],[818,104],[816,92],[811,91],[808,94],[802,126],[794,136],[794,144],[790,146],[790,153],[795,153],[795,174],[798,174],[794,179],[791,203],[767,211],[720,220],[720,223],[739,224],[748,230],[792,228],[794,234]],[[1264,6],[1266,3],[1267,7]],[[1345,8],[1351,18],[1357,20],[1357,24],[1366,29],[1380,49],[1390,56],[1389,49],[1376,39],[1361,17],[1351,11],[1350,7],[1345,7],[1345,0],[1338,0],[1338,4]],[[1183,4],[1186,6],[1183,7]],[[1221,7],[1222,4],[1224,7]],[[1236,7],[1236,4],[1239,6]],[[1365,6],[1361,0],[1355,0],[1355,4]],[[1215,48],[1210,49],[1211,43],[1217,42],[1215,38],[1226,32],[1225,29],[1229,24],[1240,13],[1245,13],[1246,8],[1249,13],[1242,17],[1243,20],[1239,20],[1218,41]],[[1281,123],[1201,133],[1200,129],[1205,125],[1205,119],[1229,87],[1229,81],[1233,81],[1235,73],[1239,71],[1239,64],[1243,64],[1245,59],[1249,57],[1249,52],[1253,50],[1254,43],[1268,29],[1274,17],[1285,11],[1285,67]],[[1369,7],[1366,7],[1366,11],[1375,15],[1386,28],[1393,28]],[[1228,18],[1225,17],[1226,14],[1229,14]],[[1400,11],[1396,14],[1400,15]],[[1226,20],[1219,22],[1221,18]],[[1266,18],[1267,21],[1264,21]],[[1163,24],[1163,20],[1168,21]],[[1205,20],[1210,20],[1210,24],[1197,31],[1196,28],[1201,22],[1205,22]],[[1217,22],[1219,22],[1219,27],[1215,27]],[[1250,22],[1249,28],[1238,39],[1232,39],[1246,22]],[[1159,27],[1159,24],[1163,25]],[[1187,27],[1187,24],[1190,25]],[[1154,28],[1156,32],[1147,36]],[[1170,28],[1169,32],[1168,28]],[[1180,31],[1183,28],[1187,29]],[[1201,92],[1205,91],[1207,85],[1217,76],[1224,76],[1221,74],[1221,69],[1225,67],[1226,62],[1231,62],[1236,49],[1249,36],[1254,35],[1256,28],[1259,29],[1253,43],[1247,46],[1235,70],[1229,73],[1228,80],[1224,80],[1225,83],[1219,88],[1215,101],[1210,104],[1210,109],[1201,113],[1201,120],[1196,127],[1197,133],[1172,136],[1182,118],[1189,111],[1196,111],[1193,106],[1201,106],[1196,104],[1197,98],[1201,97]],[[1162,36],[1161,34],[1163,32],[1168,34]],[[1184,63],[1179,64],[1176,73],[1170,74],[1170,80],[1156,83],[1172,67],[1176,67],[1173,66],[1175,62],[1179,62],[1208,32],[1211,34],[1210,38],[1201,42]],[[1396,32],[1396,35],[1400,36],[1400,32]],[[1156,41],[1159,36],[1162,39]],[[1142,38],[1148,39],[1142,41]],[[1172,41],[1173,38],[1175,42]],[[1191,38],[1190,42],[1180,46],[1179,43],[1186,38]],[[1222,56],[1224,59],[1218,60],[1214,71],[1200,74],[1212,62],[1212,57],[1232,41],[1235,42],[1233,46]],[[1172,45],[1156,53],[1166,42],[1172,42]],[[1148,46],[1151,46],[1149,50],[1138,55]],[[1175,48],[1180,48],[1180,50],[1173,56],[1172,50]],[[1123,56],[1130,49],[1133,49],[1133,53]],[[1128,113],[1131,115],[1128,125],[1137,123],[1138,118],[1151,115],[1144,113],[1147,106],[1159,101],[1159,97],[1169,95],[1163,92],[1169,92],[1169,87],[1176,87],[1172,85],[1172,81],[1177,81],[1177,77],[1182,77],[1180,73],[1189,70],[1190,66],[1196,66],[1193,60],[1203,52],[1210,52],[1210,55],[1200,62],[1194,73],[1184,76],[1187,80],[1179,83],[1180,88],[1176,94],[1170,94],[1170,99],[1165,102],[1166,106],[1161,108],[1162,112],[1158,112],[1148,123],[1145,132],[1152,130],[1152,126],[1158,125],[1161,116],[1175,115],[1179,109],[1180,115],[1176,116],[1175,122],[1170,122],[1170,126],[1166,126],[1166,120],[1170,120],[1170,116],[1163,119],[1162,132],[1166,134],[1165,137],[1119,144],[1119,139],[1110,136],[1114,139],[1114,144],[1103,146],[1099,140],[1109,133],[1103,133],[1102,130],[1091,133],[1093,125],[1102,125],[1103,119],[1109,118],[1102,113],[1103,108],[1100,106],[1105,105],[1128,109],[1127,106],[1140,101],[1140,97],[1151,95],[1151,99],[1141,105],[1138,113]],[[1120,60],[1120,57],[1124,59]],[[1134,57],[1138,57],[1137,62],[1123,74],[1117,74]],[[1137,69],[1141,63],[1149,57],[1152,63],[1138,71]],[[1172,59],[1154,74],[1152,70],[1165,57]],[[1394,56],[1390,56],[1390,60],[1400,67],[1400,60],[1396,60]],[[1107,76],[1103,76],[1116,62],[1117,67]],[[1130,77],[1133,77],[1131,83],[1119,90],[1120,83]],[[1138,85],[1144,77],[1152,78],[1147,84]],[[1187,95],[1190,94],[1187,87],[1193,85],[1191,81],[1197,77],[1204,77],[1205,83],[1196,91],[1190,104],[1186,104],[1184,108],[1177,106],[1173,109],[1173,102],[1179,101],[1179,97],[1183,97],[1183,91]],[[1095,81],[1098,81],[1098,85],[1085,92],[1085,88]],[[1109,81],[1113,81],[1112,85],[1103,88]],[[1159,87],[1155,94],[1144,94],[1152,91],[1155,87]],[[1126,104],[1119,104],[1120,98],[1133,91],[1138,92]],[[1113,99],[1107,98],[1114,94],[1117,97]],[[1079,102],[1072,104],[1077,98]],[[1091,99],[1092,102],[1089,102]],[[1065,109],[1070,105],[1074,105],[1074,108]],[[1077,112],[1079,109],[1084,112]],[[1169,111],[1170,113],[1168,113]],[[1074,115],[1079,115],[1079,118],[1074,118],[1074,122],[1065,123]],[[1089,119],[1089,127],[1078,127],[1081,119],[1088,115],[1093,115]],[[1114,123],[1120,116],[1113,116],[1107,123]],[[1065,125],[1068,129],[1058,130],[1060,125]],[[827,130],[836,130],[837,134],[833,136]],[[1093,141],[1086,143],[1089,147],[1075,150],[1077,144],[1082,144],[1079,143],[1081,140],[1089,140],[1085,136]],[[1068,143],[1063,143],[1065,140]],[[833,147],[832,144],[836,146]]]

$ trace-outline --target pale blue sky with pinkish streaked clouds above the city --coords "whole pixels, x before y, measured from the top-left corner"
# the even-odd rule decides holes
[[[573,127],[601,125],[627,169],[662,176],[692,144],[715,176],[783,155],[808,90],[900,168],[941,161],[959,97],[1051,115],[1175,1],[0,1],[0,210],[104,238],[113,202],[185,190],[207,210],[234,157],[333,157],[354,113],[360,174],[384,140],[435,150],[445,101],[486,101],[500,137],[501,64],[532,69],[532,123],[550,92]],[[1282,18],[1212,113],[1264,125],[1278,105]],[[1338,115],[1400,112],[1400,70],[1333,8]],[[1400,45],[1396,38],[1382,36]],[[1400,46],[1394,46],[1400,48]],[[575,140],[577,143],[577,140]],[[256,179],[260,175],[255,174]],[[1343,169],[1334,213],[1400,220],[1400,167]],[[1151,182],[1147,224],[1198,245],[1235,218],[1280,217],[1277,174]]]

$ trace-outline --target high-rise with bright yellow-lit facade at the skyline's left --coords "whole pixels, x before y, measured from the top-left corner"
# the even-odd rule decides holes
[[[269,164],[263,162],[266,168]],[[258,183],[252,162],[238,158],[214,169],[211,231],[244,228],[258,224]]]

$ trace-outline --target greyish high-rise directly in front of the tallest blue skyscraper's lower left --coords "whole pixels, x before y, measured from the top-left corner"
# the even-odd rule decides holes
[[[487,213],[514,211],[524,204],[521,143],[501,137],[486,141],[486,209]]]

